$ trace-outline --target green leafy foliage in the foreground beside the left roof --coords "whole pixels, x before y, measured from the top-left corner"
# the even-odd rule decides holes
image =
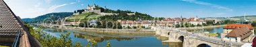
[[[32,36],[34,36],[34,38],[36,38],[43,47],[82,47],[79,42],[74,45],[72,44],[71,38],[69,37],[70,32],[67,32],[66,34],[61,34],[59,35],[60,37],[57,38],[56,36],[52,36],[50,34],[46,34],[46,32],[42,32],[40,27],[33,29],[34,26],[30,26],[30,24],[27,25],[30,34],[32,34]],[[108,43],[108,45],[108,47],[110,47],[110,43]],[[90,43],[86,45],[86,47],[93,46],[97,47],[97,42],[95,40],[92,40],[92,46],[90,46]]]

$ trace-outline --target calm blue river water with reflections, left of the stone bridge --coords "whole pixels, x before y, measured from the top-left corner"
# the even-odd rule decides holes
[[[44,28],[43,31],[57,37],[60,34],[71,32],[69,37],[71,37],[72,44],[80,42],[83,46],[86,46],[92,39],[98,42],[98,47],[105,47],[108,40],[111,47],[182,47],[183,44],[182,42],[163,43],[162,41],[168,38],[155,36],[155,34],[113,34],[62,28]]]

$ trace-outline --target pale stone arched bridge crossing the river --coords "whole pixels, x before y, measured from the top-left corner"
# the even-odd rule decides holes
[[[183,42],[183,47],[201,47],[201,46],[211,46],[211,47],[240,47],[243,43],[232,42],[222,42],[220,38],[205,36],[200,34],[193,34],[192,32],[182,31],[174,28],[162,28],[153,27],[156,30],[156,34],[160,36],[168,37],[168,40],[162,42]]]

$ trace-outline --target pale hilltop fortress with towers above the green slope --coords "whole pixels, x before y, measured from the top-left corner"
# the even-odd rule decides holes
[[[98,5],[96,5],[94,3],[94,5],[90,6],[88,5],[87,9],[82,9],[82,11],[77,11],[74,12],[73,15],[80,15],[81,13],[89,13],[89,12],[94,12],[97,13],[98,15],[119,15],[119,13],[104,13],[104,9],[106,9],[106,7],[104,7],[104,9],[96,9],[98,7]],[[127,13],[127,15],[135,15],[135,13]]]

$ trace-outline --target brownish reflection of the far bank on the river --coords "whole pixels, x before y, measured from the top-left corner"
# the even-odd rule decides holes
[[[154,33],[108,33],[108,32],[92,32],[92,31],[83,31],[83,30],[70,30],[70,29],[61,29],[61,28],[46,28],[46,32],[59,33],[59,32],[73,32],[76,35],[86,34],[90,36],[102,36],[102,37],[118,37],[118,38],[132,38],[132,37],[153,37]]]

